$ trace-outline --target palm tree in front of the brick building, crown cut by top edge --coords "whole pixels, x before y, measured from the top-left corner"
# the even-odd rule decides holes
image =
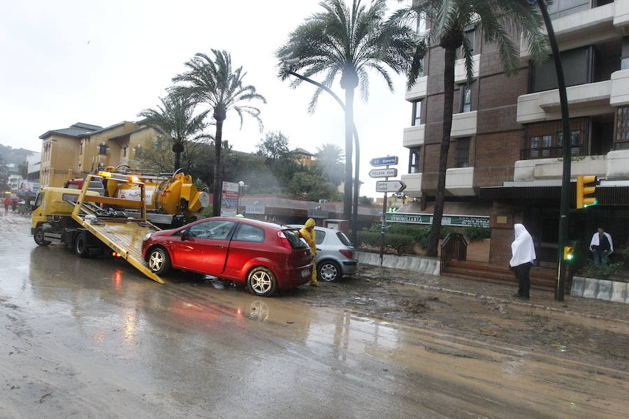
[[[445,178],[447,157],[452,128],[454,101],[454,61],[456,51],[461,48],[465,59],[468,82],[472,81],[472,45],[464,36],[464,30],[476,25],[482,33],[484,43],[497,43],[500,61],[507,75],[514,74],[519,68],[519,47],[512,40],[514,34],[521,34],[528,44],[531,59],[540,64],[547,58],[546,36],[542,32],[544,21],[539,10],[527,0],[414,0],[413,5],[394,13],[389,19],[393,31],[409,20],[426,18],[430,29],[418,36],[408,75],[411,87],[419,71],[421,59],[431,45],[444,49],[444,106],[443,133],[439,154],[439,176],[435,196],[433,225],[426,249],[426,256],[437,256],[444,207]]]

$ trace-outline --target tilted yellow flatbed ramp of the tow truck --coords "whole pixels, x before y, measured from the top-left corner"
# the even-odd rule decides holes
[[[142,243],[145,235],[160,230],[152,223],[146,221],[144,185],[140,184],[140,190],[142,191],[142,200],[140,201],[109,198],[106,196],[87,196],[87,185],[89,185],[89,180],[91,180],[89,178],[99,178],[100,176],[87,175],[87,177],[87,182],[83,183],[83,189],[75,203],[72,218],[110,249],[120,254],[124,260],[131,263],[133,267],[136,267],[145,276],[160,284],[164,284],[164,280],[151,272],[142,258]],[[108,216],[110,213],[99,207],[99,203],[136,207],[140,210],[142,218],[128,219],[126,217]]]

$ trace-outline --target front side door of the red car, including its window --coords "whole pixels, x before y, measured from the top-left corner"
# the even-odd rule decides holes
[[[175,263],[205,274],[221,274],[236,221],[210,220],[191,225],[176,241]]]

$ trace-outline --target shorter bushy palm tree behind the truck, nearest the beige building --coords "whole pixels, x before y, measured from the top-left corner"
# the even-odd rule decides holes
[[[150,126],[172,142],[175,153],[173,172],[176,172],[181,168],[181,154],[187,142],[198,138],[208,126],[204,121],[209,111],[194,116],[196,102],[190,96],[169,94],[159,100],[161,105],[157,105],[157,109],[143,110],[138,117],[144,117],[143,124]]]

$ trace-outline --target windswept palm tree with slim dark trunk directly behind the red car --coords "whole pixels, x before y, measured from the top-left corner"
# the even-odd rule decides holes
[[[212,201],[214,216],[221,213],[222,191],[222,160],[221,146],[223,144],[223,124],[227,113],[236,111],[240,117],[240,127],[243,126],[243,115],[247,114],[258,121],[262,131],[260,110],[245,102],[260,100],[266,103],[266,99],[257,93],[256,88],[250,84],[244,84],[245,73],[243,67],[233,68],[229,52],[212,50],[214,59],[207,54],[197,52],[194,57],[185,63],[187,71],[173,78],[173,82],[182,83],[173,90],[179,94],[189,95],[200,103],[210,107],[212,118],[216,122],[216,135],[214,138],[215,159],[214,165],[214,199]]]

